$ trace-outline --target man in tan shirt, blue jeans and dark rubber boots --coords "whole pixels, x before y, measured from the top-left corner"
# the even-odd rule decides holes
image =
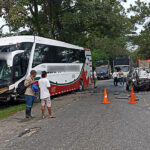
[[[25,101],[26,101],[26,118],[31,119],[31,109],[34,103],[35,93],[31,88],[31,85],[35,83],[34,78],[36,77],[36,71],[32,70],[30,76],[26,78],[24,85],[27,87],[25,91]]]

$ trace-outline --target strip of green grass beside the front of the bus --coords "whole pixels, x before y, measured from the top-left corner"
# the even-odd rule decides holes
[[[10,106],[8,108],[0,109],[0,120],[7,118],[21,110],[25,110],[25,104],[20,104],[16,106]]]

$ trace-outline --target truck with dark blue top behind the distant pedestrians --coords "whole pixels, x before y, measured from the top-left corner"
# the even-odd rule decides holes
[[[119,72],[120,69],[123,71],[124,77],[127,77],[127,74],[130,70],[130,59],[129,58],[117,58],[113,61],[113,68],[117,69]]]

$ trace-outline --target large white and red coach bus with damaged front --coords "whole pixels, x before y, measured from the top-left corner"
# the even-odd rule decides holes
[[[89,49],[38,36],[0,38],[0,99],[18,96],[17,88],[37,71],[48,73],[51,95],[83,90],[92,83],[92,58]]]

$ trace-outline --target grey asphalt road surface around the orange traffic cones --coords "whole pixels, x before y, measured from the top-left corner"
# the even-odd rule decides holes
[[[108,105],[101,104],[105,87]],[[58,109],[56,118],[37,121],[37,132],[5,141],[0,149],[150,150],[150,94],[136,93],[137,104],[128,104],[128,95],[112,80],[100,81],[97,89]]]

